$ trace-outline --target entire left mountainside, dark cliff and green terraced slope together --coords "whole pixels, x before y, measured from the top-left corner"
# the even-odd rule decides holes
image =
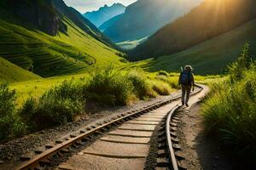
[[[0,56],[4,59],[26,70],[33,68],[34,73],[41,77],[84,72],[94,65],[122,64],[118,52],[110,48],[108,42],[104,42],[104,37],[96,27],[73,8],[67,8],[62,0],[56,0],[57,5],[53,1],[41,0],[15,2],[18,2],[15,8],[0,4]],[[40,10],[44,10],[41,6],[38,6],[36,14],[33,10],[27,10],[27,13],[34,14],[32,18],[40,21],[37,26],[32,23],[32,18],[24,16],[21,19],[20,15],[13,12],[17,9],[16,13],[23,14],[23,6],[44,5],[42,2],[50,2],[49,7],[53,12],[47,16],[42,15],[42,20],[44,17],[55,19],[65,27],[61,31],[57,25],[54,37],[44,30],[44,24],[52,23],[41,20]],[[16,8],[18,4],[20,9]]]

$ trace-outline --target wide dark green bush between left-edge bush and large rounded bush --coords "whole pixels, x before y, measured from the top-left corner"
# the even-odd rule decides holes
[[[30,131],[72,122],[84,111],[82,86],[74,80],[64,81],[41,98],[27,99],[20,110],[22,120]]]

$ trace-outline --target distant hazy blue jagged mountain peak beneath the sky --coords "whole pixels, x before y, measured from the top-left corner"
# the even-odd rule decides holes
[[[125,6],[123,4],[113,3],[110,7],[105,5],[97,11],[87,12],[84,14],[84,17],[90,20],[95,26],[99,27],[107,20],[110,20],[119,14],[123,14],[124,12]]]

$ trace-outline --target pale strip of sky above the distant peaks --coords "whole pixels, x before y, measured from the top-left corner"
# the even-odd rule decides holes
[[[128,6],[137,0],[64,0],[67,6],[76,8],[80,13],[84,14],[88,11],[97,10],[98,8],[107,4],[108,6],[113,3],[122,3]]]

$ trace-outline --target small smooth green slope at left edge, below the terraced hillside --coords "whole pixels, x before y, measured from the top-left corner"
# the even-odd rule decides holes
[[[40,78],[0,57],[0,82],[21,82]]]

